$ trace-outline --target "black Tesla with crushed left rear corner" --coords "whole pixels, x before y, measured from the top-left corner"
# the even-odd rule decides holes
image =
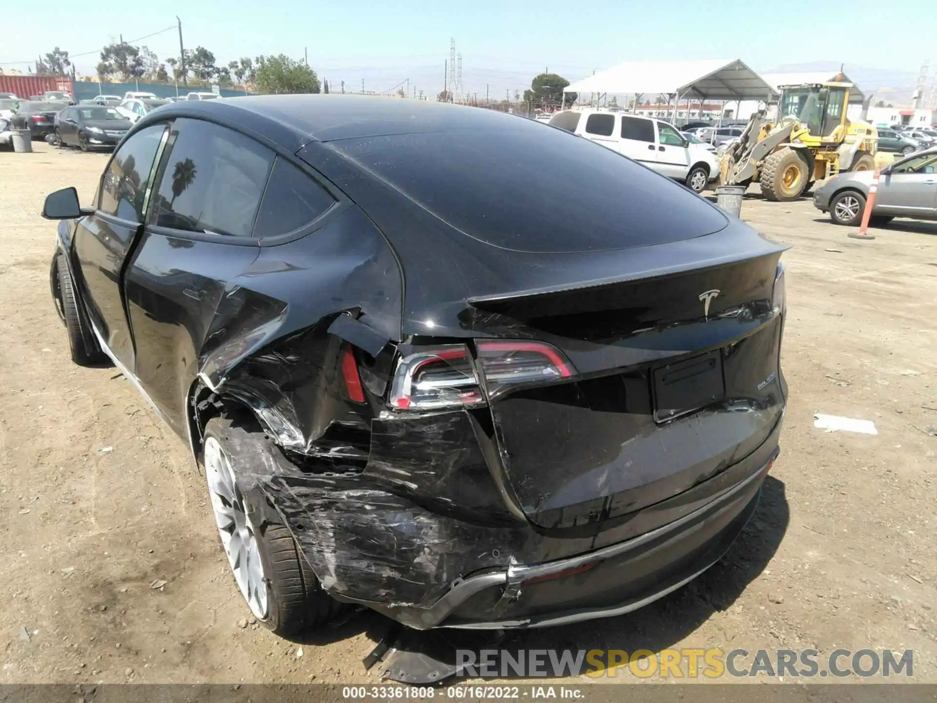
[[[72,358],[201,462],[254,617],[586,621],[721,558],[779,451],[786,247],[531,120],[225,102],[145,115],[43,216]]]

